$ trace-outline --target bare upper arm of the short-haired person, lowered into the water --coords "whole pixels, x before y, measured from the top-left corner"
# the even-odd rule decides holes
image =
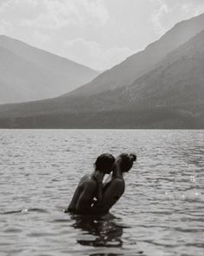
[[[91,212],[91,204],[95,196],[95,188],[96,186],[95,186],[95,183],[93,182],[87,182],[84,185],[83,191],[76,203],[76,212],[78,213]]]

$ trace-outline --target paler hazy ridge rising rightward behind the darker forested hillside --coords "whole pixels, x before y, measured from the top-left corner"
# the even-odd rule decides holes
[[[128,84],[132,84],[136,78],[154,69],[155,64],[181,44],[188,42],[197,33],[204,29],[204,14],[176,24],[158,41],[148,45],[144,51],[128,57],[121,64],[92,80],[89,84],[65,94],[64,97],[84,97],[94,95],[102,91],[111,91]]]

